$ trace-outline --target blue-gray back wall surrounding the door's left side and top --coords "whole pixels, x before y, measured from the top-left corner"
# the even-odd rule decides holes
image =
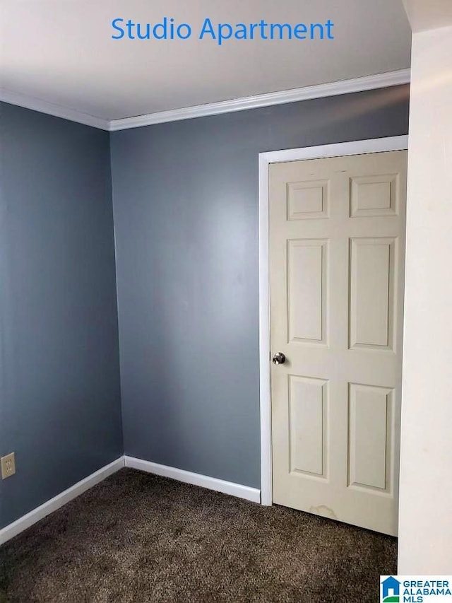
[[[258,153],[408,133],[408,87],[112,134],[126,455],[260,485]]]

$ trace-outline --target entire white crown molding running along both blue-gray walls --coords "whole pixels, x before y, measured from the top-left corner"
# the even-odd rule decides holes
[[[220,115],[221,113],[257,109],[258,107],[270,107],[270,105],[284,105],[285,103],[295,103],[299,100],[364,92],[364,90],[400,86],[406,83],[410,83],[410,69],[389,71],[386,74],[364,76],[351,80],[322,83],[318,86],[306,86],[305,88],[293,88],[292,90],[283,90],[281,92],[270,92],[268,94],[247,96],[245,98],[222,100],[220,103],[196,105],[196,107],[184,107],[182,109],[148,113],[147,115],[137,115],[136,117],[124,117],[124,119],[113,119],[112,121],[88,115],[69,107],[54,105],[54,103],[48,103],[47,100],[11,92],[11,90],[0,89],[0,100],[5,103],[11,103],[11,105],[19,105],[26,109],[54,115],[54,117],[69,119],[79,124],[107,131],[117,131],[154,124],[165,124],[167,122],[178,122],[181,119],[194,119],[194,117],[207,117],[208,115]]]

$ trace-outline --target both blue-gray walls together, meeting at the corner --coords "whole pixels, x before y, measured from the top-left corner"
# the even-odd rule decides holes
[[[110,139],[0,110],[0,527],[124,449],[258,487],[258,153],[406,134],[408,87]]]

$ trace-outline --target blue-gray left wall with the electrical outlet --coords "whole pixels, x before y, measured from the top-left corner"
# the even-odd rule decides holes
[[[0,111],[2,527],[123,447],[109,134]]]

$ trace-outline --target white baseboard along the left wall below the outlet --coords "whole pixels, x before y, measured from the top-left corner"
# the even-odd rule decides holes
[[[53,513],[53,511],[66,505],[66,503],[69,503],[69,500],[73,500],[73,498],[80,496],[83,492],[95,486],[95,484],[98,484],[109,475],[122,469],[122,467],[124,467],[124,457],[119,457],[116,461],[113,461],[95,473],[88,475],[88,477],[85,477],[85,479],[74,484],[71,488],[57,494],[57,496],[54,496],[54,498],[51,498],[50,500],[47,500],[47,503],[40,505],[40,507],[33,509],[30,513],[27,513],[27,515],[19,517],[15,522],[0,529],[0,545],[17,536],[17,534],[20,534],[24,529],[27,529],[39,520],[42,520],[43,517],[46,517],[49,513]]]

